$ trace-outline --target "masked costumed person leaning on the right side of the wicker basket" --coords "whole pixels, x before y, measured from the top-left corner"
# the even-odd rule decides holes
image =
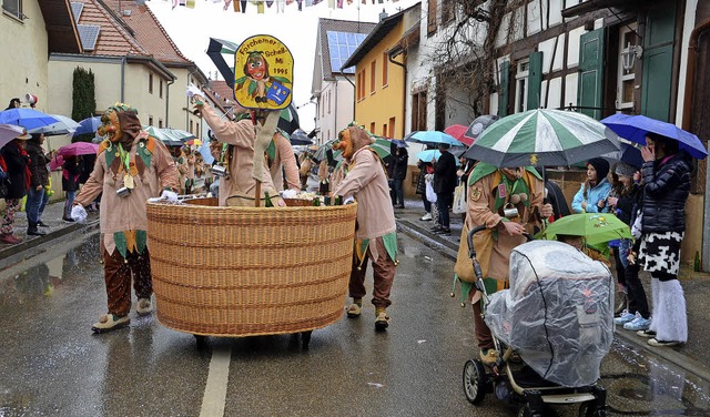
[[[361,315],[366,295],[367,260],[371,260],[375,329],[384,330],[389,326],[387,307],[392,304],[389,293],[397,269],[397,235],[387,176],[371,143],[372,136],[358,126],[349,126],[338,134],[338,142],[333,149],[343,152],[348,167],[333,194],[343,196],[344,202],[349,199],[357,201],[357,230],[348,285],[353,303],[347,308],[347,316],[355,318]]]

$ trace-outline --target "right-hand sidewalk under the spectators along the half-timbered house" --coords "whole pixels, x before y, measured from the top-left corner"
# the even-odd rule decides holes
[[[436,243],[442,253],[447,258],[455,261],[458,252],[458,241],[462,234],[462,216],[460,214],[450,214],[450,235],[437,235],[429,231],[433,226],[430,221],[420,221],[424,215],[424,203],[420,199],[407,200],[405,208],[395,210],[395,218],[397,221],[397,230],[422,238]],[[453,267],[452,267],[453,269]],[[454,271],[450,276],[442,276],[440,279],[453,279]],[[646,272],[641,273],[641,281],[651,304],[651,283],[650,275]],[[616,336],[623,343],[630,344],[640,350],[646,350],[658,355],[674,365],[710,380],[710,274],[697,273],[692,267],[681,267],[680,282],[686,293],[686,303],[688,312],[688,343],[682,347],[651,347],[647,344],[647,339],[637,336],[635,332],[625,330],[617,327]],[[452,298],[452,303],[459,303],[459,295]]]

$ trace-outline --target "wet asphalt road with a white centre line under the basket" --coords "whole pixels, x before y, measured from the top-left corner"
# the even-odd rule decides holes
[[[93,335],[105,311],[98,234],[68,238],[0,273],[0,416],[516,415],[491,394],[479,406],[464,396],[476,349],[470,307],[449,297],[452,261],[404,233],[399,248],[387,333],[374,332],[367,304],[314,330],[307,352],[295,335],[197,349],[135,313],[130,328]],[[710,416],[709,382],[647,355],[617,342],[605,358],[609,415]]]

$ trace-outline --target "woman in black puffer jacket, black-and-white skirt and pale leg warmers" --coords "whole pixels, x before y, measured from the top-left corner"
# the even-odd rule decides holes
[[[692,160],[679,151],[672,139],[649,133],[646,143],[641,149],[643,214],[639,261],[651,273],[653,317],[649,329],[637,333],[649,337],[651,346],[676,346],[688,340],[686,297],[678,272]]]

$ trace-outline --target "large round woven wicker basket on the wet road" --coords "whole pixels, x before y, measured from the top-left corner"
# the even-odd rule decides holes
[[[156,315],[195,335],[312,330],[343,316],[356,205],[148,203]]]

